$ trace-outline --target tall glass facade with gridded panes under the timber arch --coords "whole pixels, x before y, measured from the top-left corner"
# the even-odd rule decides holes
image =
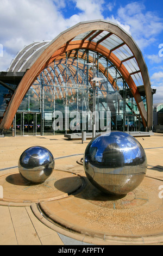
[[[101,78],[96,87],[95,77]],[[110,112],[111,130],[143,130],[139,109],[120,72],[110,60],[89,50],[67,52],[47,66],[28,90],[11,128],[22,136],[91,132],[93,90],[97,132],[103,131],[101,119],[106,125],[106,112]],[[0,86],[1,117],[9,94]],[[143,102],[146,106],[146,99]]]

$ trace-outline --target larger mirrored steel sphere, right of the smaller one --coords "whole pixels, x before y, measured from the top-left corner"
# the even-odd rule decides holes
[[[87,145],[83,158],[90,182],[104,193],[122,195],[140,185],[147,170],[141,144],[126,132],[102,133]]]

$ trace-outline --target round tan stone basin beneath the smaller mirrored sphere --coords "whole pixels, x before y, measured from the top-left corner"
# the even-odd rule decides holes
[[[54,170],[51,177],[41,184],[27,181],[18,172],[2,175],[0,185],[3,187],[3,198],[0,198],[0,205],[4,202],[26,204],[67,197],[82,184],[80,176],[60,170]]]

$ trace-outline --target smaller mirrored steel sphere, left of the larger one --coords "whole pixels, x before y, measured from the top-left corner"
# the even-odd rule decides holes
[[[18,161],[21,175],[34,183],[44,182],[53,172],[54,157],[44,147],[30,147],[26,149]]]

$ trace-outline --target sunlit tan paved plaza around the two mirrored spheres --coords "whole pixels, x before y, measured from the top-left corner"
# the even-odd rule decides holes
[[[90,139],[82,143],[64,135],[0,138],[0,245],[161,245],[163,207],[159,195],[163,196],[163,192],[159,188],[163,185],[163,134],[136,139],[147,155],[145,181],[126,199],[110,203],[106,197],[102,200],[92,187],[84,192],[85,197],[82,194],[81,180],[86,181],[86,176],[81,159]],[[23,183],[17,168],[20,155],[34,145],[49,149],[55,159],[51,179],[40,186]],[[96,198],[91,197],[93,193]],[[132,207],[134,210],[128,215],[131,221],[126,224],[123,211],[129,214]],[[116,211],[119,217],[115,224],[112,212]],[[138,219],[142,217],[138,222],[136,215]],[[103,239],[102,223],[106,218],[110,224],[105,227],[111,231]]]

